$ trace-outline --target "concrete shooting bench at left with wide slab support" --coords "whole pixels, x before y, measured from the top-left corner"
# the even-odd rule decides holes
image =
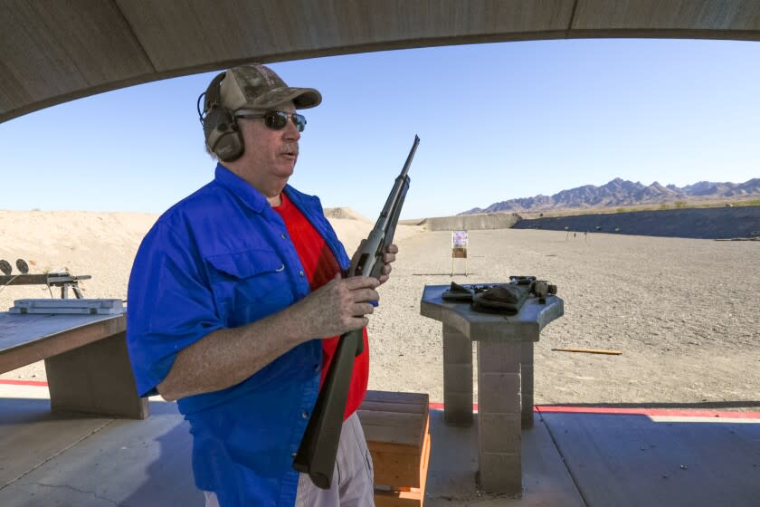
[[[126,329],[123,313],[0,312],[0,373],[44,359],[53,411],[144,419]]]

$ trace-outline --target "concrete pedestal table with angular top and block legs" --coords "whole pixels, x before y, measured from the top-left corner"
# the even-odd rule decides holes
[[[563,301],[548,296],[541,304],[534,297],[517,315],[481,313],[472,311],[469,302],[443,301],[449,288],[426,285],[420,305],[424,317],[443,324],[444,420],[454,426],[472,424],[472,342],[476,341],[480,487],[519,494],[520,431],[533,426],[533,343],[546,324],[563,315]]]

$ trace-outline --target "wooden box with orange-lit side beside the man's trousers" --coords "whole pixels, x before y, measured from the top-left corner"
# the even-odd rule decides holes
[[[375,464],[377,507],[422,507],[430,456],[429,397],[367,391],[357,410]]]

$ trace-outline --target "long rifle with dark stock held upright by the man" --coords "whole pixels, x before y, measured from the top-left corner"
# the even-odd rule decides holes
[[[361,251],[348,268],[349,276],[373,276],[380,278],[383,269],[385,246],[394,240],[395,226],[401,207],[404,206],[406,191],[409,189],[409,167],[420,138],[414,136],[412,149],[406,158],[401,174],[396,177],[394,187],[385,201],[383,211],[369,233]],[[340,336],[335,356],[333,356],[325,383],[319,391],[317,404],[311,413],[309,426],[303,435],[299,452],[293,460],[293,468],[309,474],[311,481],[319,488],[329,489],[346,412],[348,387],[354,371],[354,358],[364,350],[362,330],[352,330]]]

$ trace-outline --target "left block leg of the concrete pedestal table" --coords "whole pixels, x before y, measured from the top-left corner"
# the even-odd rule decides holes
[[[443,324],[443,419],[472,426],[472,342]]]

